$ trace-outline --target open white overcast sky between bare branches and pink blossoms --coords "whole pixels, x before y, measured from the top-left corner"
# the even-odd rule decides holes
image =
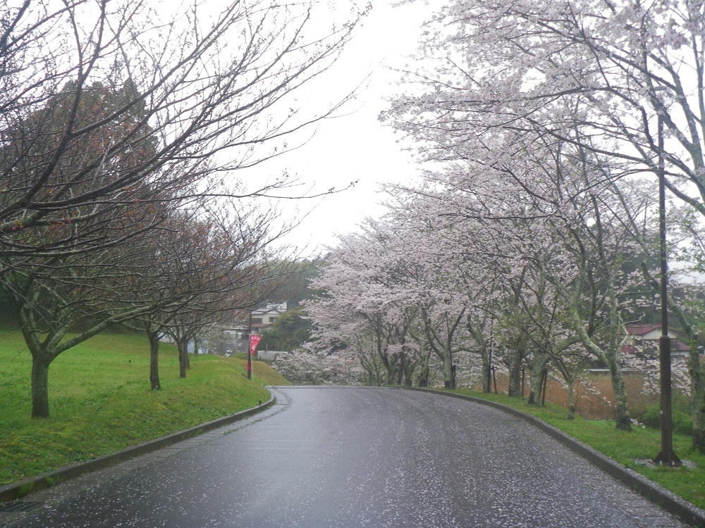
[[[408,182],[419,171],[410,152],[398,144],[400,134],[382,125],[377,116],[386,108],[384,97],[400,91],[394,84],[399,74],[390,67],[408,64],[407,56],[417,49],[429,7],[424,2],[391,4],[390,0],[374,2],[341,58],[312,87],[310,103],[320,108],[323,94],[331,94],[333,101],[336,94],[350,92],[370,75],[367,88],[339,112],[341,117],[319,122],[312,139],[300,149],[252,169],[258,177],[287,170],[300,177],[301,189],[314,185],[312,194],[357,180],[352,189],[322,199],[282,201],[286,216],[310,211],[286,238],[299,249],[306,246],[306,255],[336,245],[336,233],[355,231],[365,217],[379,216],[383,211],[379,202],[384,199],[378,192],[380,183]],[[313,131],[309,129],[308,134]]]

